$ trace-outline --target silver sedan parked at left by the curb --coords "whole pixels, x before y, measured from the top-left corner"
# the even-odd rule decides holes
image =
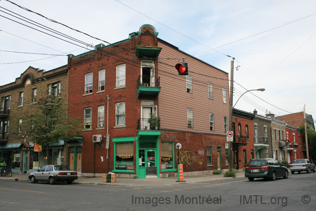
[[[77,172],[71,171],[63,165],[46,165],[31,173],[29,179],[32,183],[48,181],[49,184],[54,184],[57,181],[66,181],[71,184],[75,179],[78,179],[78,176]]]

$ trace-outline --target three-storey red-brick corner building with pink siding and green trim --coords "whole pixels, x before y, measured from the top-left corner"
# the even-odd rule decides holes
[[[178,160],[185,175],[228,168],[228,73],[157,35],[143,25],[125,40],[68,55],[68,113],[81,117],[83,138],[67,153],[82,175],[169,177]],[[182,58],[188,76],[174,67]]]

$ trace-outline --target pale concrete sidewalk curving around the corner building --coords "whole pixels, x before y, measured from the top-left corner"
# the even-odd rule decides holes
[[[245,177],[244,172],[236,172],[237,178]],[[29,180],[28,174],[18,174],[13,173],[12,177],[0,177],[0,180],[9,179],[9,180],[17,180],[17,181],[27,181]],[[73,183],[77,184],[95,184],[95,185],[123,185],[123,186],[158,186],[158,185],[170,185],[170,184],[183,184],[183,183],[196,183],[196,182],[206,182],[212,180],[222,180],[229,179],[231,177],[224,177],[224,174],[210,174],[203,176],[191,176],[185,177],[186,182],[176,182],[177,177],[169,177],[169,178],[156,178],[149,177],[146,179],[129,179],[129,178],[116,178],[116,183],[103,183],[102,177],[84,177],[78,176],[78,179],[74,180]]]

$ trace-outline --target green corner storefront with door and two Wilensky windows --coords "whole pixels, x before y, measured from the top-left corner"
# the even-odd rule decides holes
[[[136,173],[137,178],[148,178],[160,177],[160,171],[176,171],[174,142],[159,142],[160,134],[161,131],[140,130],[136,137],[113,138],[113,172]]]

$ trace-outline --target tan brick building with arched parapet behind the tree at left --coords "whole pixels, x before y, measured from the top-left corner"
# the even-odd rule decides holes
[[[68,69],[67,66],[45,71],[30,66],[14,82],[0,86],[1,98],[1,134],[0,134],[0,160],[10,166],[12,172],[27,173],[46,165],[46,150],[34,151],[32,137],[23,135],[23,127],[15,130],[13,127],[13,113],[21,113],[28,105],[37,103],[40,87],[47,87],[48,95],[67,99]],[[19,119],[19,124],[23,119]],[[17,133],[14,133],[17,132]],[[51,163],[63,164],[64,140],[49,147]]]

